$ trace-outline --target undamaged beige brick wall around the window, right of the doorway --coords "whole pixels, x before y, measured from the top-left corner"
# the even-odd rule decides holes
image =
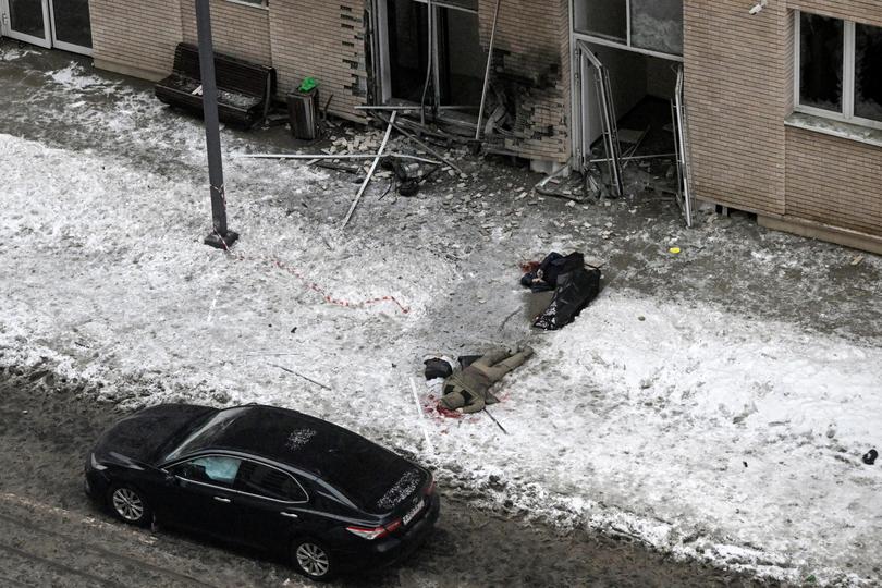
[[[882,236],[882,147],[785,124],[795,101],[794,11],[882,26],[882,2],[770,0],[756,16],[738,0],[684,4],[698,196],[850,245],[852,232]],[[806,231],[810,223],[823,230]]]

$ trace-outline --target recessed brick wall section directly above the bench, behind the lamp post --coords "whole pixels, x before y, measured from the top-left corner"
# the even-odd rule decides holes
[[[195,45],[199,41],[199,37],[196,33],[194,2],[179,1],[184,40]],[[215,50],[219,53],[265,65],[272,64],[269,11],[266,8],[237,4],[228,0],[211,0],[211,36],[215,40]]]

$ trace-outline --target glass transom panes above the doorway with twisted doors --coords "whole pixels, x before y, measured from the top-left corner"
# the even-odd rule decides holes
[[[683,0],[573,0],[573,17],[585,40],[683,54]]]

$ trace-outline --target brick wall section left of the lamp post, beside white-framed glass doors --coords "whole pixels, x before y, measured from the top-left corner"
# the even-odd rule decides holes
[[[89,0],[95,63],[149,79],[171,71],[181,0]]]

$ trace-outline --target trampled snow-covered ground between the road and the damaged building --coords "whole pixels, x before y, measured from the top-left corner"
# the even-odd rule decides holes
[[[19,59],[8,51],[0,68]],[[734,248],[744,255],[726,257],[733,275],[747,268],[806,296],[750,318],[724,298],[761,298],[762,284],[708,274],[690,282],[707,286],[701,295],[685,298],[633,283],[632,271],[678,280],[666,245],[650,255],[640,241],[657,218],[595,242],[590,225],[611,218],[595,218],[602,207],[513,200],[523,186],[504,180],[481,198],[476,180],[445,179],[437,194],[397,203],[379,200],[378,182],[341,233],[356,189],[348,177],[231,158],[230,222],[243,238],[226,255],[200,243],[199,125],[77,64],[28,76],[42,76],[81,121],[32,140],[13,136],[9,111],[0,119],[0,366],[50,370],[125,406],[293,407],[414,454],[478,504],[792,581],[882,583],[882,467],[859,460],[882,445],[879,258],[866,256],[862,280],[829,284],[841,304],[816,304],[809,270],[825,264],[835,278],[850,271],[836,259],[857,254],[765,233],[731,244],[749,233],[665,221],[686,254]],[[224,133],[228,155],[260,149],[249,140]],[[491,196],[506,200],[504,215]],[[563,220],[547,221],[551,207]],[[525,313],[500,327],[527,305],[517,264],[575,247],[633,267],[617,265],[563,331],[530,333]],[[401,306],[360,304],[383,297]],[[840,333],[796,318],[818,307],[850,322]],[[492,409],[507,434],[483,415],[432,409],[439,390],[419,378],[425,354],[523,340],[536,357]]]

